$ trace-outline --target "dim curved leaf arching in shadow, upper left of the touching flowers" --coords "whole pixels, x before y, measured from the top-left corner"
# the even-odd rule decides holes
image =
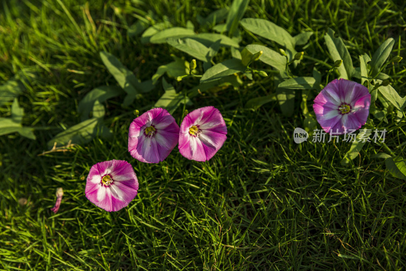
[[[89,118],[89,113],[93,108],[94,102],[98,101],[103,103],[104,101],[116,97],[122,93],[122,90],[118,86],[107,86],[102,85],[93,88],[85,97],[79,102],[78,111],[81,117],[81,120]]]

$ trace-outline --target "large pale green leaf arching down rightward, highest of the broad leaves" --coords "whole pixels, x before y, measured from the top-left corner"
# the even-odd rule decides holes
[[[285,46],[288,51],[289,59],[292,59],[293,55],[296,53],[294,49],[294,38],[292,38],[285,29],[275,23],[255,18],[244,18],[240,23],[248,31]]]

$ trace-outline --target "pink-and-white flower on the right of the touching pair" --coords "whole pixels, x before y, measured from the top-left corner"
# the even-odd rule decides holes
[[[179,152],[189,160],[210,160],[223,146],[227,127],[213,106],[193,110],[185,116],[179,132]]]

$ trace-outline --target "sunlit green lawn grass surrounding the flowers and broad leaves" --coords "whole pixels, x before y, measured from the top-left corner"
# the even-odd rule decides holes
[[[291,117],[282,116],[276,103],[244,109],[249,99],[274,92],[272,76],[193,98],[189,111],[213,105],[226,120],[228,138],[209,162],[189,161],[177,147],[159,164],[140,163],[129,155],[132,110],[153,106],[163,93],[160,86],[128,108],[121,106],[123,96],[104,103],[113,138],[97,137],[65,152],[41,155],[63,127],[80,122],[77,106],[86,93],[116,84],[100,50],[113,53],[142,80],[171,62],[170,53],[189,60],[168,45],[146,46],[139,36],[128,37],[132,23],[153,13],[156,22],[185,26],[190,20],[199,30],[197,14],[206,16],[231,2],[137,3],[0,4],[0,84],[21,70],[35,72],[18,102],[25,110],[23,124],[35,127],[37,136],[36,141],[16,133],[0,136],[1,269],[406,268],[406,188],[382,159],[373,157],[385,149],[368,143],[352,164],[341,166],[350,143],[295,144],[293,130],[302,127],[303,119],[299,104]],[[296,0],[288,5],[252,0],[245,17],[269,19],[293,35],[314,31],[303,49],[306,57],[293,73],[308,76],[317,67],[324,77],[328,67],[322,63],[332,64],[323,39],[327,27],[344,39],[354,65],[359,54],[374,52],[389,37],[396,40],[390,57],[404,58],[405,13],[402,1]],[[242,33],[242,46],[256,41]],[[228,56],[224,50],[215,61]],[[402,97],[405,71],[404,61],[384,70]],[[194,79],[168,82],[178,91],[197,85]],[[0,115],[9,117],[10,108],[11,102],[0,107]],[[181,109],[174,114],[177,120],[181,115]],[[406,157],[406,121],[395,123],[394,114],[388,120],[394,129],[385,142]],[[111,159],[129,161],[140,182],[136,199],[116,213],[104,212],[84,195],[90,167]],[[64,196],[53,214],[57,187]],[[19,204],[21,198],[27,199],[25,205]]]

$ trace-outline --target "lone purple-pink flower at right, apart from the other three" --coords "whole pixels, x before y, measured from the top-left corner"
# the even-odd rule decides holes
[[[346,79],[329,82],[314,99],[317,121],[326,133],[358,130],[368,118],[371,95],[365,86]]]

